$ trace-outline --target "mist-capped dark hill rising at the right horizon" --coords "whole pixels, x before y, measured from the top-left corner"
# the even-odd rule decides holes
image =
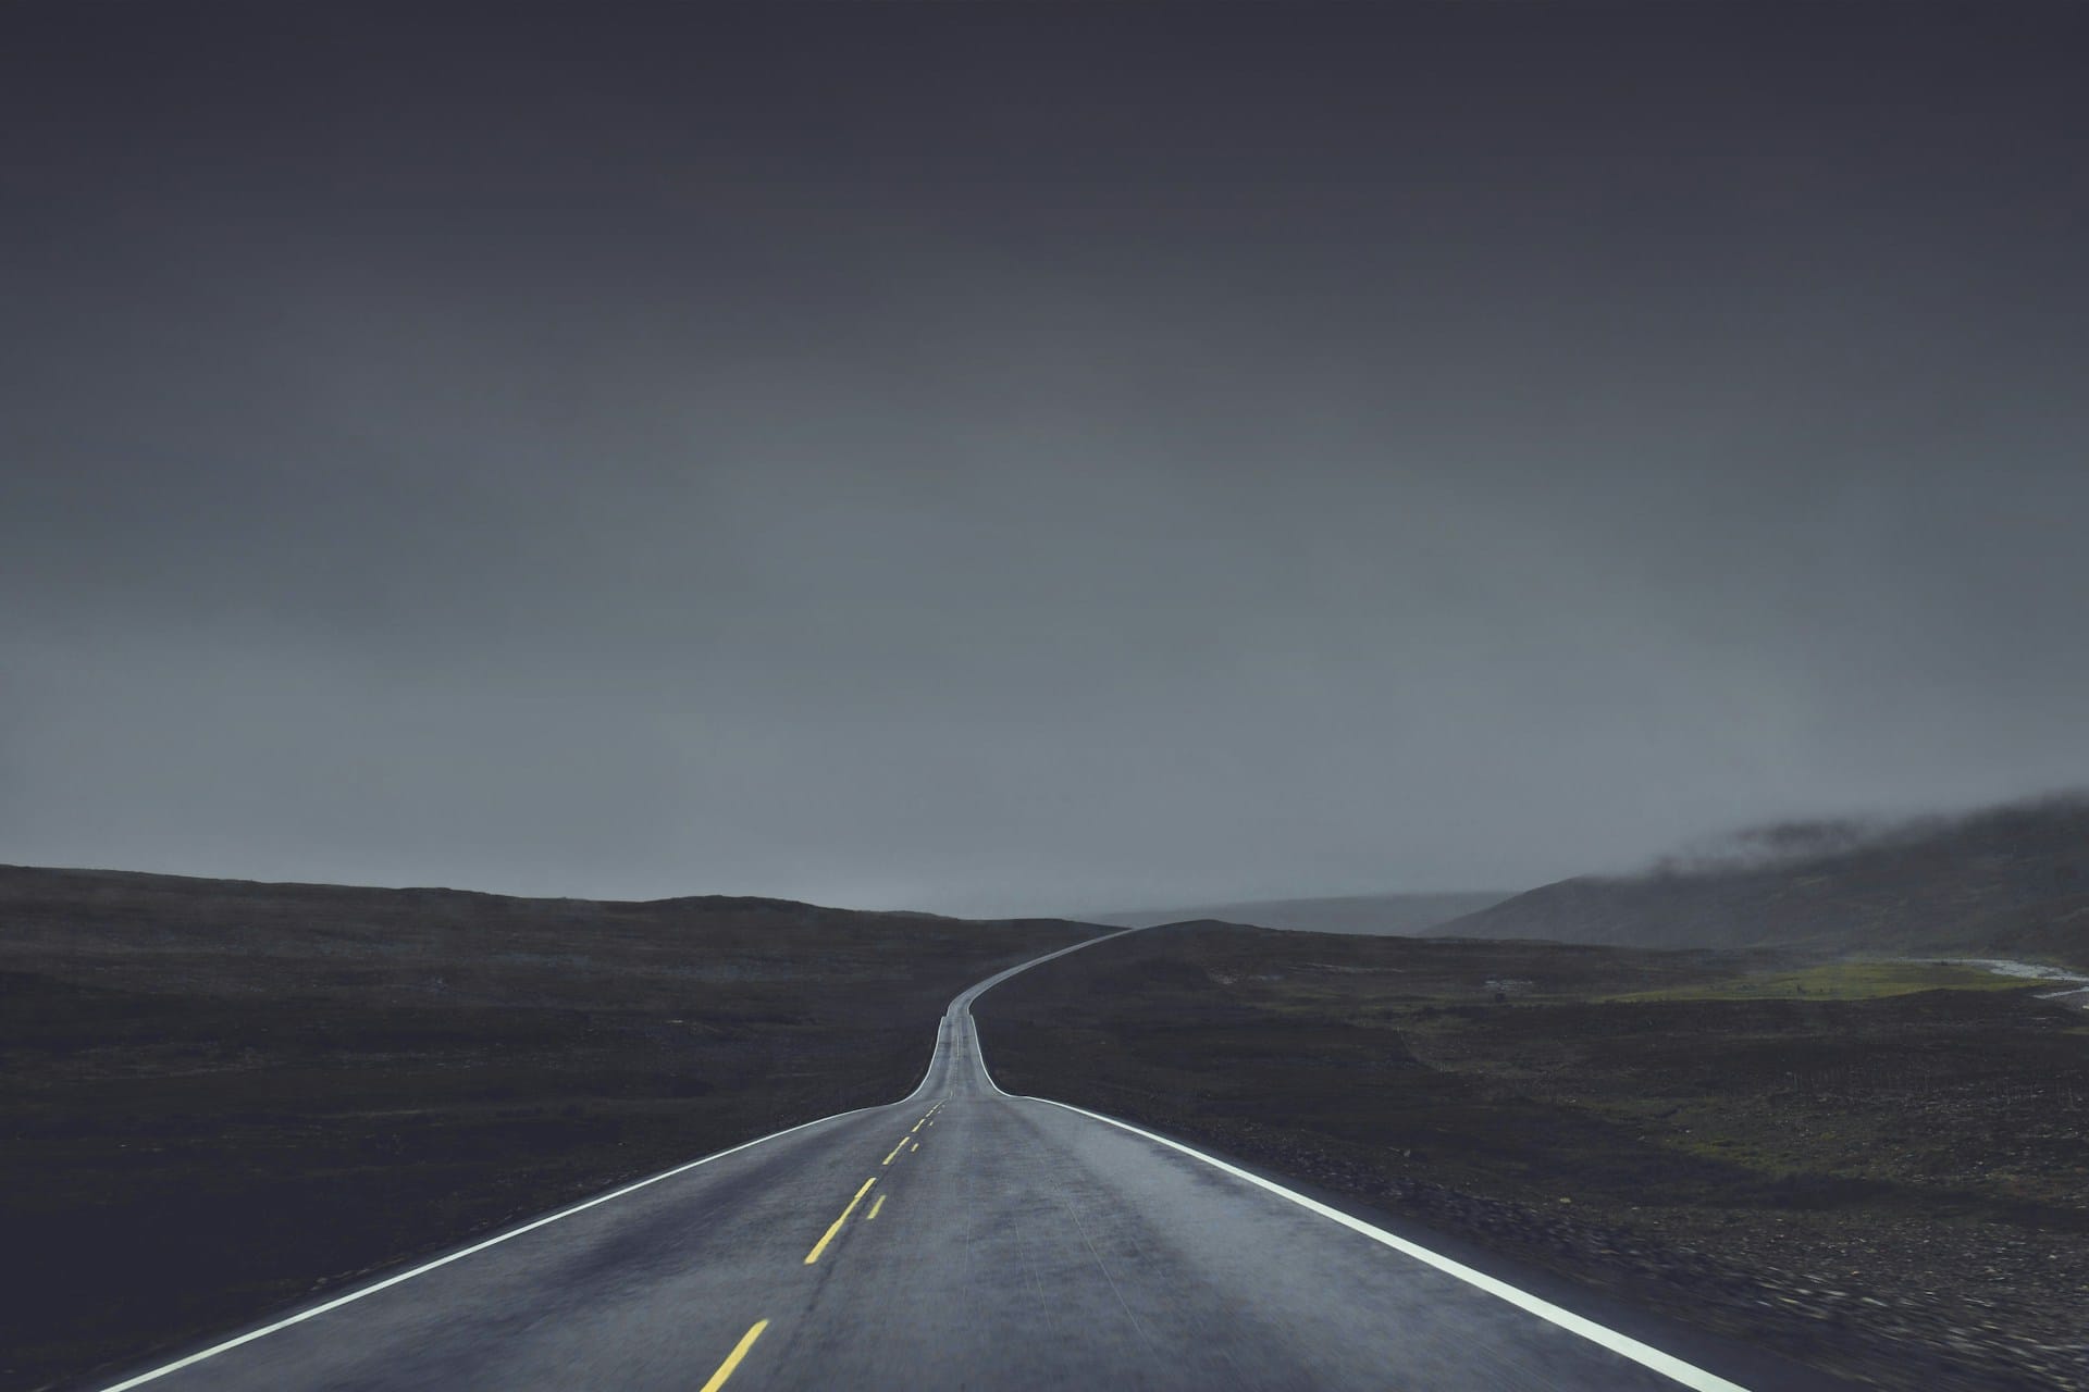
[[[1865,829],[1801,822],[1625,879],[1544,885],[1433,929],[1636,947],[1805,945],[2089,964],[2089,797]]]

